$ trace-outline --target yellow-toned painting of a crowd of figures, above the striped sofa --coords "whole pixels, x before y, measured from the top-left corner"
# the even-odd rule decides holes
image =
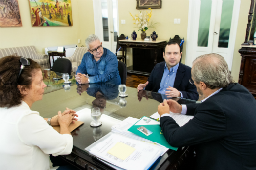
[[[29,0],[32,26],[72,26],[71,0]]]

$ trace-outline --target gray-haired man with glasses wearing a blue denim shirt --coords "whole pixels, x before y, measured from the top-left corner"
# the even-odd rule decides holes
[[[88,52],[84,54],[76,72],[79,84],[109,82],[121,84],[116,55],[102,47],[99,38],[92,34],[86,39]]]

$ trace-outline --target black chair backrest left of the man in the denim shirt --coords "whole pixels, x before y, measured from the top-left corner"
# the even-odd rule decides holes
[[[53,66],[52,66],[52,71],[58,72],[58,73],[68,73],[71,75],[71,61],[66,59],[66,58],[58,58]]]

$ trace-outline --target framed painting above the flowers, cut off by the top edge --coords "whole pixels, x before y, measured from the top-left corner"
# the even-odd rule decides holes
[[[136,0],[137,6],[136,9],[159,9],[161,8],[161,0]]]

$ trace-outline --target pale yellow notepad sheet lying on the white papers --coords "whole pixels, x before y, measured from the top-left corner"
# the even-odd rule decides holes
[[[126,145],[122,142],[117,142],[115,146],[113,146],[107,153],[117,157],[118,159],[125,160],[134,151],[135,151],[135,148],[129,145]]]

